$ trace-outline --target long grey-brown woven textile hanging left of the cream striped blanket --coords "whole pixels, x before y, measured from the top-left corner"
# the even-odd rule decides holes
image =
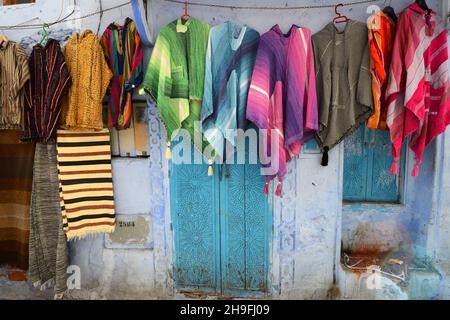
[[[57,296],[67,289],[68,249],[59,204],[55,143],[36,143],[30,210],[30,281]]]

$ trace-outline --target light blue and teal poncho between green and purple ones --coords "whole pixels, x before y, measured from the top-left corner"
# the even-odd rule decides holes
[[[201,120],[205,138],[224,158],[225,141],[236,145],[230,130],[246,129],[246,105],[259,33],[225,22],[211,28],[206,53]]]

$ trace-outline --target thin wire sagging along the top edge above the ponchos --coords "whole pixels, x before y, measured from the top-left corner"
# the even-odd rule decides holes
[[[164,0],[165,2],[185,4],[182,0]],[[323,4],[323,5],[308,5],[308,6],[284,6],[284,7],[265,7],[265,6],[231,6],[223,4],[211,4],[211,3],[200,3],[189,1],[188,5],[199,6],[199,7],[212,7],[221,9],[237,9],[237,10],[307,10],[307,9],[321,9],[321,8],[334,8],[338,4],[342,4],[344,7],[355,6],[360,4],[367,4],[373,2],[381,2],[382,0],[361,0],[345,3],[333,3],[333,4]]]

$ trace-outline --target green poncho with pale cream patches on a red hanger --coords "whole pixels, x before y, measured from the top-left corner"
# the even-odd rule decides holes
[[[193,17],[180,18],[161,28],[156,39],[144,88],[156,103],[169,143],[180,128],[196,140],[194,122],[200,121],[209,29]]]

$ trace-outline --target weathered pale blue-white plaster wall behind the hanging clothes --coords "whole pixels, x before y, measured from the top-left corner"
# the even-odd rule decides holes
[[[103,8],[121,4],[125,0],[102,1]],[[163,0],[148,1],[150,20],[155,33],[159,28],[182,13],[180,5]],[[198,0],[198,2],[217,2]],[[335,1],[302,1],[302,5],[331,3]],[[380,1],[380,5],[384,1]],[[437,7],[438,0],[428,3]],[[78,0],[76,16],[82,16],[99,9],[99,1]],[[236,5],[279,6],[276,0],[227,1]],[[286,0],[283,5],[298,5],[298,1]],[[392,1],[397,9],[409,4],[408,0]],[[29,21],[39,16],[44,21],[53,21],[70,12],[73,0],[48,1],[37,0],[35,5],[24,5],[0,10],[2,24]],[[355,20],[365,21],[368,17],[367,6],[360,5],[343,10]],[[204,7],[190,7],[190,14],[211,24],[226,20],[245,23],[260,32],[265,32],[272,25],[279,23],[283,30],[288,30],[292,23],[307,26],[313,32],[319,31],[334,16],[329,10],[299,11],[256,11],[231,10]],[[81,24],[67,23],[52,27],[85,29],[92,28],[100,33],[109,22],[122,22],[131,16],[129,6],[106,12],[99,27],[99,16],[95,15]],[[35,30],[36,31],[36,30]],[[14,40],[29,35],[30,30],[5,31]],[[146,49],[148,56],[150,50]],[[74,297],[141,297],[157,298],[174,294],[171,263],[172,233],[170,230],[170,203],[167,177],[167,162],[163,156],[163,128],[156,117],[154,107],[150,108],[150,158],[146,160],[118,159],[113,162],[114,188],[117,213],[120,221],[125,221],[120,234],[112,237],[94,237],[75,242],[71,245],[71,263],[81,267],[83,290],[72,291]],[[450,142],[446,140],[447,150]],[[406,194],[414,195],[408,202],[408,214],[392,210],[363,208],[342,212],[342,168],[343,148],[340,146],[330,153],[330,166],[320,166],[320,155],[303,154],[289,164],[288,176],[284,184],[285,194],[282,199],[271,199],[274,206],[274,231],[271,243],[270,283],[271,295],[275,298],[325,298],[333,281],[339,281],[341,232],[351,240],[352,229],[363,221],[370,223],[393,220],[415,230],[413,240],[419,247],[432,247],[427,244],[429,232],[428,213],[432,207],[433,194],[429,190],[434,185],[434,150],[430,148],[422,167],[421,177],[411,184]],[[410,172],[412,168],[409,159]],[[450,169],[450,156],[444,162],[445,170]],[[443,182],[443,193],[450,191],[448,177]],[[420,195],[420,196],[417,196]],[[447,198],[448,199],[448,198]],[[406,201],[406,200],[405,200]],[[445,200],[447,201],[447,200]],[[450,203],[443,202],[441,207],[449,208]],[[367,212],[369,211],[369,212]],[[445,210],[444,210],[445,211]],[[450,212],[445,211],[442,220],[450,225]],[[345,217],[347,215],[347,217]],[[341,231],[342,219],[344,228]],[[133,227],[132,223],[135,222]],[[133,231],[137,230],[137,231]],[[446,238],[439,248],[442,256],[450,259],[448,254],[450,242],[448,230],[440,234]],[[447,237],[446,237],[447,235]],[[344,238],[345,238],[344,237]],[[424,249],[427,251],[427,249]]]

